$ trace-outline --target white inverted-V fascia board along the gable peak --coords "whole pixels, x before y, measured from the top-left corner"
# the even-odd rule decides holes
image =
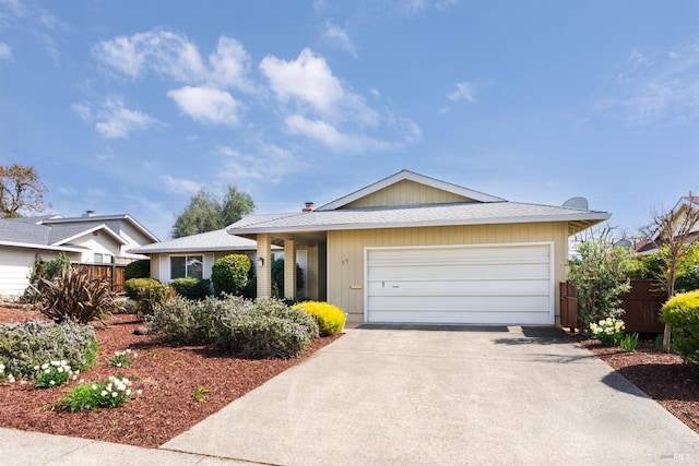
[[[322,205],[316,211],[333,211],[335,208],[340,208],[344,205],[350,204],[358,199],[365,198],[369,194],[372,194],[377,191],[382,190],[383,188],[388,188],[391,184],[395,184],[399,181],[408,180],[414,181],[419,184],[425,184],[435,189],[439,189],[441,191],[451,192],[454,194],[462,195],[464,198],[473,199],[479,202],[503,202],[505,199],[496,198],[490,194],[486,194],[483,192],[474,191],[464,187],[460,187],[458,184],[448,183],[446,181],[438,180],[436,178],[426,177],[424,175],[415,174],[410,170],[399,171],[395,175],[392,175],[388,178],[384,178],[380,181],[371,183],[365,188],[362,188],[353,193],[350,193],[345,196],[342,196],[335,201],[332,201],[325,205]]]

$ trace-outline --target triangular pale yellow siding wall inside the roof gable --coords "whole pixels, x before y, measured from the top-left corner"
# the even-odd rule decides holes
[[[415,181],[403,180],[383,188],[370,195],[357,199],[343,208],[382,207],[418,204],[445,204],[455,202],[474,202],[472,199],[442,191]]]

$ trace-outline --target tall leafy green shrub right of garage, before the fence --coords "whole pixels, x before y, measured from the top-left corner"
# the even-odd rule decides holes
[[[624,313],[619,295],[630,289],[626,267],[631,251],[613,248],[607,237],[608,232],[603,232],[600,238],[581,242],[579,256],[569,264],[569,279],[578,288],[580,330],[587,335],[591,333],[592,323]]]

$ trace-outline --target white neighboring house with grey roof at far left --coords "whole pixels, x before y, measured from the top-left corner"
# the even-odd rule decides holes
[[[128,249],[157,241],[129,215],[82,217],[44,215],[0,219],[0,296],[17,297],[28,286],[32,266],[62,252],[71,262],[127,264],[144,255]]]

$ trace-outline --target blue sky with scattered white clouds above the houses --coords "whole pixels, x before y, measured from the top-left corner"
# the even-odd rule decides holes
[[[404,168],[635,232],[699,192],[699,2],[0,0],[0,163],[161,239]]]

